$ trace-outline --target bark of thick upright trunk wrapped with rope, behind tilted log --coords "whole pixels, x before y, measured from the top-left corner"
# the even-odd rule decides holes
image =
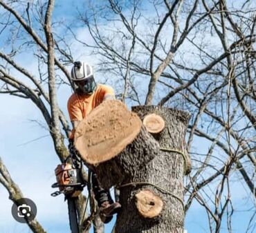
[[[161,148],[185,152],[185,133],[190,119],[188,113],[160,106],[136,106],[132,110],[142,120],[148,114],[161,116],[165,127],[158,134],[153,134],[154,138]],[[183,156],[159,150],[158,156],[134,173],[130,183],[120,186],[122,211],[117,216],[115,232],[183,232],[183,174]],[[138,211],[138,194],[142,190],[149,190],[163,201],[163,209],[153,218],[145,217]]]

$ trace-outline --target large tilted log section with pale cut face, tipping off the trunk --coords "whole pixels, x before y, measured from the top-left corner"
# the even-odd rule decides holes
[[[158,154],[140,118],[120,101],[104,101],[75,130],[75,148],[102,188],[128,182]]]

